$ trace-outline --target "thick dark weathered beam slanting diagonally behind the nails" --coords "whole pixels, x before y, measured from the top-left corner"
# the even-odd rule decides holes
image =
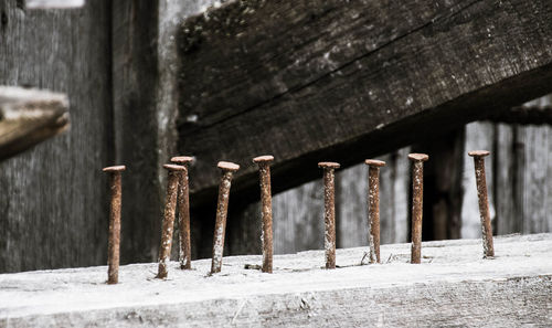
[[[274,155],[277,192],[319,160],[348,167],[552,91],[548,0],[232,1],[188,19],[180,45],[195,204],[217,160],[242,165],[248,197],[251,158]]]

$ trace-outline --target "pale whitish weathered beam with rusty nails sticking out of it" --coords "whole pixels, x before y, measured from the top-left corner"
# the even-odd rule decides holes
[[[105,266],[0,275],[0,325],[6,327],[549,327],[552,235],[496,240],[497,257],[481,258],[481,241],[383,245],[381,265],[359,265],[363,248],[338,250],[338,267],[321,268],[323,252],[275,256],[274,274],[244,269],[262,256],[226,257],[209,276],[170,263],[120,268],[106,285]]]

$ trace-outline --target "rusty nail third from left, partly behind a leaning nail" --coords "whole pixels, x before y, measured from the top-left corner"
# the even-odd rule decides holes
[[[177,156],[171,158],[172,162],[182,166],[178,183],[178,219],[180,228],[180,247],[178,257],[180,268],[192,268],[192,246],[190,240],[190,188],[188,182],[188,166],[193,161],[193,157]]]

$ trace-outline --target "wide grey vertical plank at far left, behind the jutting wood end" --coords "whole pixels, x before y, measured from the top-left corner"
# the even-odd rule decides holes
[[[0,272],[105,263],[113,160],[109,1],[0,1],[0,84],[67,95],[72,128],[0,163]]]

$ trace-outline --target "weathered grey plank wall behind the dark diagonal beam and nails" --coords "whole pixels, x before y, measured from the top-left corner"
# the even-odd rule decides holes
[[[82,9],[45,11],[21,0],[0,3],[0,85],[64,92],[72,117],[68,133],[0,162],[0,272],[105,264],[108,189],[100,169],[112,163],[129,168],[121,261],[157,258],[160,167],[177,149],[174,35],[182,19],[210,2],[88,0]],[[551,99],[528,106],[550,113]],[[495,234],[552,230],[551,126],[491,118],[380,157],[388,162],[382,243],[408,240],[411,150],[431,157],[424,239],[479,237],[471,149],[492,152],[486,165]],[[364,245],[367,169],[360,163],[337,179],[338,246]],[[275,195],[276,253],[322,247],[322,202],[321,178]],[[258,204],[231,198],[230,208],[226,251],[259,253]],[[194,254],[209,256],[214,216],[192,220]]]

